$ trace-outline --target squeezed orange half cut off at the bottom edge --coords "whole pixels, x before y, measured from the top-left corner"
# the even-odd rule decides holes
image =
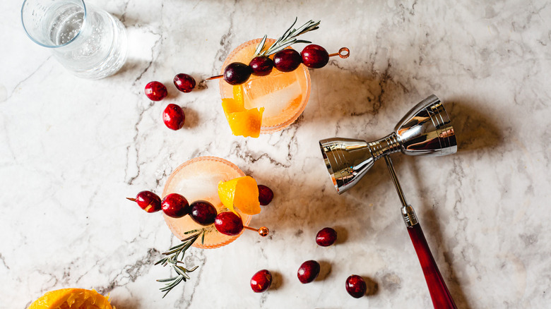
[[[114,309],[107,297],[94,290],[61,289],[49,291],[28,309]]]

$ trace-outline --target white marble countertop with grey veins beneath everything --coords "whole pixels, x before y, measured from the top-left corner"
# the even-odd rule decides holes
[[[102,80],[73,78],[20,25],[20,1],[0,11],[0,308],[26,308],[66,287],[109,293],[118,309],[432,308],[384,163],[338,195],[318,140],[372,140],[434,93],[458,137],[447,157],[393,155],[403,190],[458,308],[551,303],[551,5],[547,1],[107,1],[90,0],[128,30],[129,59]],[[230,134],[218,83],[188,94],[177,73],[217,73],[241,42],[321,20],[304,36],[329,52],[311,71],[304,113],[258,139]],[[298,46],[297,49],[302,49]],[[159,80],[169,97],[151,102]],[[165,128],[166,104],[184,108]],[[179,164],[201,155],[234,162],[275,192],[253,219],[272,234],[191,250],[191,280],[165,298],[154,267],[177,242],[160,215],[124,198],[162,191]],[[430,172],[427,172],[430,170]],[[339,233],[321,248],[324,226]],[[319,279],[300,284],[305,260]],[[266,293],[249,279],[270,269]],[[360,274],[369,295],[345,279]]]

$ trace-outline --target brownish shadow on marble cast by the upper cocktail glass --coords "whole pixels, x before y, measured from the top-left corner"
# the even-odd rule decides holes
[[[304,124],[312,128],[334,126],[336,134],[345,138],[373,140],[390,133],[396,123],[389,126],[386,123],[398,121],[402,116],[396,109],[415,102],[410,102],[410,90],[400,81],[403,77],[390,75],[389,71],[390,67],[386,71],[352,71],[335,65],[310,71],[312,93],[307,106],[310,117]],[[377,134],[381,132],[378,123],[385,123],[383,134]],[[343,136],[344,132],[356,135]]]

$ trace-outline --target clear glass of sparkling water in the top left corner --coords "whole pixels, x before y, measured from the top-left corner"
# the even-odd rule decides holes
[[[83,0],[25,0],[21,21],[28,37],[81,78],[105,78],[126,61],[121,21]]]

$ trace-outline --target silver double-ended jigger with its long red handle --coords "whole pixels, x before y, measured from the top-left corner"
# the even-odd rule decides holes
[[[384,157],[398,197],[402,203],[402,217],[419,258],[434,308],[456,308],[442,274],[432,257],[425,235],[411,205],[405,200],[389,154],[445,155],[457,151],[456,136],[444,105],[430,95],[398,122],[386,137],[367,143],[350,138],[320,140],[321,153],[337,192],[343,193],[365,176],[377,159]]]

